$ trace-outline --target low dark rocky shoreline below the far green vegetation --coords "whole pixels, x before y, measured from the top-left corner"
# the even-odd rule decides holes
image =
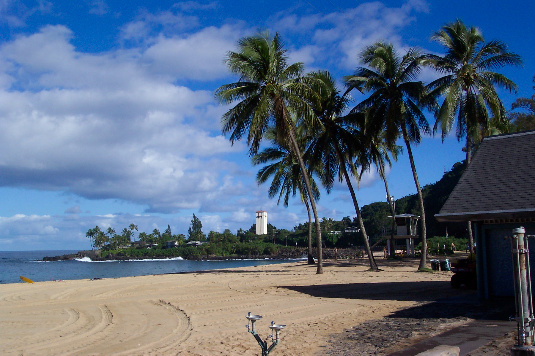
[[[45,256],[42,261],[44,262],[53,262],[53,261],[64,261],[72,260],[75,258],[89,257],[92,261],[124,261],[128,259],[168,259],[173,258],[173,256],[128,256],[128,254],[117,254],[112,256],[101,257],[101,250],[87,250],[87,251],[78,251],[77,254],[68,254],[62,256]],[[126,251],[125,251],[126,252]],[[316,249],[313,252],[314,257],[317,256]],[[336,256],[338,255],[338,256]],[[174,256],[179,257],[179,256]],[[230,255],[230,256],[181,256],[184,259],[188,260],[239,260],[239,259],[301,259],[307,257],[306,248],[293,248],[293,249],[281,249],[277,254],[274,255]],[[323,249],[323,258],[324,259],[353,259],[360,258],[361,250],[358,249]]]

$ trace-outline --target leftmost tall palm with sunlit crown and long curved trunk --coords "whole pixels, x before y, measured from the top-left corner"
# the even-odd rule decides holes
[[[301,174],[314,212],[318,245],[318,274],[323,273],[322,235],[314,201],[314,192],[296,138],[294,117],[307,127],[321,126],[309,102],[316,93],[300,78],[303,64],[288,65],[284,43],[277,33],[244,37],[238,41],[238,51],[228,52],[226,64],[239,81],[220,86],[216,98],[223,104],[238,101],[222,117],[222,131],[231,133],[232,143],[247,136],[249,154],[258,153],[264,133],[270,126],[277,132],[279,142],[288,142],[299,161]],[[296,115],[291,115],[294,112]]]

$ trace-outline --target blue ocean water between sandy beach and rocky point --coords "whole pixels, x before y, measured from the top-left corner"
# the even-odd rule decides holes
[[[91,262],[81,260],[36,262],[44,256],[60,256],[78,251],[0,251],[0,283],[24,283],[19,276],[35,282],[85,278],[118,278],[136,275],[192,272],[289,262],[284,259],[189,261],[178,258]]]

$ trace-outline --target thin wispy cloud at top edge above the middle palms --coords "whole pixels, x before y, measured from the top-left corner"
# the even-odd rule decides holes
[[[295,54],[290,52],[296,59],[307,60],[307,65],[354,69],[358,52],[377,39],[403,46],[400,29],[415,21],[416,12],[427,11],[423,0],[409,0],[400,7],[375,1],[325,14],[280,12],[269,22],[271,28],[298,38],[293,41],[297,47]]]

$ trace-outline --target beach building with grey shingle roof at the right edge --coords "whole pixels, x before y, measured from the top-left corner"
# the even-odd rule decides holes
[[[521,226],[526,234],[535,234],[535,130],[485,137],[435,218],[472,221],[479,298],[513,296],[507,236]],[[529,243],[535,271],[535,241]],[[535,273],[531,283],[535,285]]]

